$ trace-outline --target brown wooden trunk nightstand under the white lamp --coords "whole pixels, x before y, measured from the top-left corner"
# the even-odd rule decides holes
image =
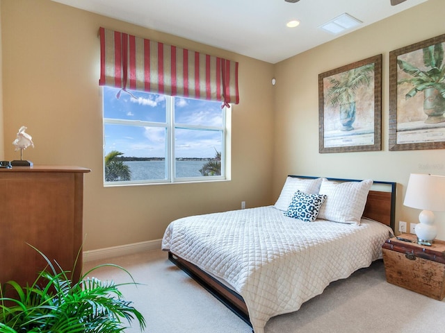
[[[400,237],[416,241],[415,234]],[[387,282],[435,300],[445,297],[445,241],[423,246],[393,237],[382,246]]]

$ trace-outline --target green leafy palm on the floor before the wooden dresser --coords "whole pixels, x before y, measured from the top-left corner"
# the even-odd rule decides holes
[[[37,249],[35,249],[37,250]],[[38,250],[37,250],[38,251]],[[124,321],[136,319],[142,331],[145,318],[131,302],[122,298],[122,284],[87,278],[104,264],[86,272],[73,283],[69,271],[56,267],[40,251],[48,268],[41,271],[31,286],[15,281],[0,285],[0,332],[2,333],[115,333],[123,332]],[[133,280],[133,278],[131,278]],[[136,282],[131,282],[136,284]],[[124,320],[124,321],[123,321]]]

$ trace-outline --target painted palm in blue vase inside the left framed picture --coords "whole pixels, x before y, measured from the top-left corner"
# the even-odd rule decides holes
[[[373,71],[374,64],[368,64],[328,78],[332,86],[327,89],[327,104],[332,108],[340,107],[340,122],[343,126],[341,130],[354,129],[357,89],[371,83]]]

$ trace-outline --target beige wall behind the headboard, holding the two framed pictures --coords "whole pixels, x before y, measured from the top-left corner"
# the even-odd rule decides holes
[[[273,198],[288,173],[398,182],[396,223],[418,221],[403,206],[410,173],[445,175],[445,151],[389,151],[389,51],[445,33],[445,1],[429,0],[275,65]],[[382,53],[382,151],[318,153],[318,74]],[[445,214],[438,238],[445,239]],[[398,226],[396,227],[398,228]],[[409,227],[408,227],[409,228]]]

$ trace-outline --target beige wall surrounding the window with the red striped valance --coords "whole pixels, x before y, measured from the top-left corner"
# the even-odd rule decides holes
[[[35,148],[24,158],[92,170],[85,177],[84,250],[160,239],[173,219],[238,209],[242,200],[247,207],[270,203],[273,65],[49,0],[1,0],[0,9],[5,158],[19,158],[10,142],[25,125]],[[103,187],[99,26],[239,62],[231,181]]]

